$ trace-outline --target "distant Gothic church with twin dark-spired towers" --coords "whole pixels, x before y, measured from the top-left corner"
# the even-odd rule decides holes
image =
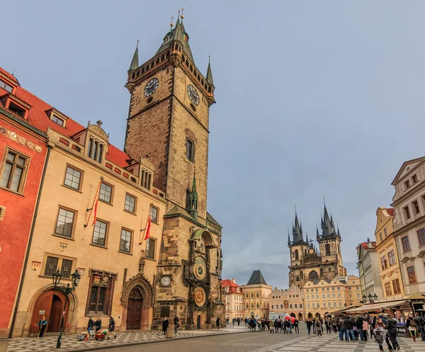
[[[305,282],[319,280],[333,280],[337,276],[345,276],[346,268],[342,265],[341,234],[335,228],[334,219],[329,217],[326,204],[321,219],[322,233],[316,229],[316,241],[319,248],[313,245],[313,240],[307,233],[302,233],[302,224],[295,211],[292,240],[288,233],[288,247],[290,248],[289,285],[299,288]]]

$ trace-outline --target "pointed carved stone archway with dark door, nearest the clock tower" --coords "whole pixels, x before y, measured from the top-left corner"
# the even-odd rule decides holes
[[[130,299],[130,304],[129,304]],[[133,314],[134,317],[130,319],[130,329],[137,329],[132,319],[136,319],[137,314],[140,314],[140,327],[142,330],[150,330],[152,321],[152,304],[154,302],[154,290],[152,285],[145,278],[143,273],[138,273],[124,283],[123,294],[121,295],[121,305],[123,306],[123,317],[121,321],[128,322],[128,314]],[[130,312],[129,312],[130,309]],[[140,312],[134,312],[134,309],[140,310]],[[134,323],[134,324],[133,324]],[[126,327],[126,329],[129,329]],[[121,330],[124,330],[124,326],[121,326]]]

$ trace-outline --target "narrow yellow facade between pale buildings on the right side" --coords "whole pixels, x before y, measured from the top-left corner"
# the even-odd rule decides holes
[[[392,235],[394,209],[380,207],[376,211],[376,217],[375,249],[378,253],[384,299],[401,299],[404,295],[402,276],[395,238]]]

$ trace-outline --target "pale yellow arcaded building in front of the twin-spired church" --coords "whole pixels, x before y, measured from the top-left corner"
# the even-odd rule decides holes
[[[304,290],[307,319],[324,317],[329,312],[358,304],[362,299],[360,279],[354,275],[317,283],[309,281]]]

